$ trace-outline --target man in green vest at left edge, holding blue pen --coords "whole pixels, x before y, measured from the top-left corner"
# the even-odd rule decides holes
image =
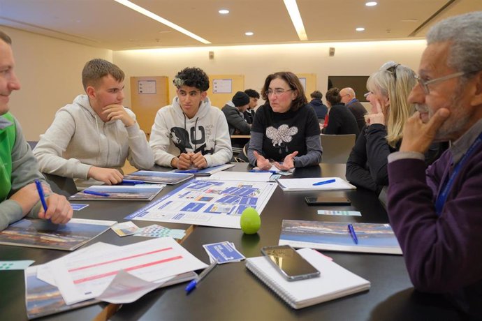
[[[20,124],[8,111],[10,94],[20,89],[11,45],[11,38],[0,31],[0,230],[24,216],[65,224],[72,218],[71,204],[65,196],[52,193]],[[43,186],[47,211],[41,205],[36,179]]]

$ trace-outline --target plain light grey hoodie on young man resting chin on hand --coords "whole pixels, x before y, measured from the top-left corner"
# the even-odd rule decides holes
[[[127,113],[136,115],[126,108]],[[139,170],[154,165],[152,150],[138,123],[126,127],[120,120],[104,123],[87,95],[57,111],[54,121],[34,149],[41,172],[73,177],[78,187],[102,184],[87,181],[91,166],[121,170],[126,159]]]

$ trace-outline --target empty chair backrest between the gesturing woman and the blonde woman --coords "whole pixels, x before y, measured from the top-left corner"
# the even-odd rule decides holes
[[[355,134],[350,135],[320,135],[323,156],[321,163],[343,163],[350,156],[351,149],[355,145]]]

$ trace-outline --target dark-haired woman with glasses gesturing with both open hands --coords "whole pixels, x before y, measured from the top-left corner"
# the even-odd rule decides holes
[[[279,170],[317,165],[321,160],[320,128],[307,105],[302,84],[290,72],[268,75],[251,128],[248,159],[251,165]]]

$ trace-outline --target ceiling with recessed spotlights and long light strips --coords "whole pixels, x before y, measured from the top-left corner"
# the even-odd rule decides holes
[[[282,0],[131,1],[214,46],[301,43]],[[309,42],[423,38],[444,17],[482,10],[481,0],[297,2]],[[0,0],[0,24],[110,50],[206,46],[114,0]]]

